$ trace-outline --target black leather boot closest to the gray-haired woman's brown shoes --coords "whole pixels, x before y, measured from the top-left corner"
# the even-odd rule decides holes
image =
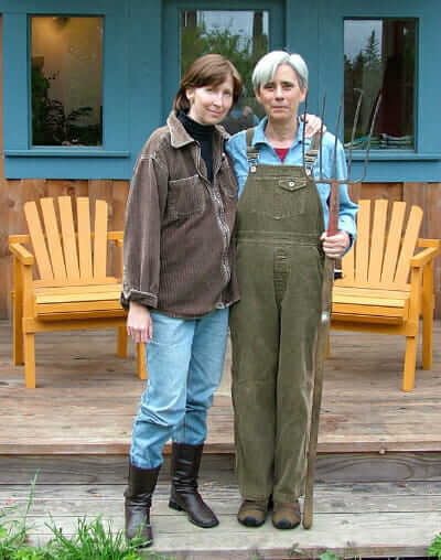
[[[173,443],[172,446],[172,494],[169,506],[186,511],[197,527],[208,528],[219,524],[217,517],[197,492],[197,474],[204,445]]]

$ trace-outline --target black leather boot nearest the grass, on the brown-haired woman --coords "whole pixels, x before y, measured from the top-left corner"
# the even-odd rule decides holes
[[[140,469],[129,464],[129,484],[125,491],[126,539],[131,541],[139,538],[140,548],[150,547],[153,543],[150,507],[160,469],[160,466]]]

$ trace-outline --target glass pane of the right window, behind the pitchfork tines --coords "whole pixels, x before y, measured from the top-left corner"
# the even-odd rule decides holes
[[[344,24],[345,142],[349,142],[358,98],[364,91],[355,149],[366,134],[379,91],[381,105],[373,149],[415,149],[417,20],[346,20]]]

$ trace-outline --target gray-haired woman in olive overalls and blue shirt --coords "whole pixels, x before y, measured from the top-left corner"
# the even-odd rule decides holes
[[[340,189],[338,234],[326,236],[330,185],[315,183],[320,132],[303,141],[299,106],[308,66],[275,51],[252,74],[266,117],[227,144],[239,183],[237,274],[230,312],[238,520],[262,525],[271,500],[279,529],[300,524],[324,255],[341,257],[355,233],[357,206]],[[335,138],[322,138],[322,172],[332,176]],[[303,166],[303,150],[306,168]],[[306,170],[306,172],[305,172]],[[337,144],[336,174],[346,176]]]

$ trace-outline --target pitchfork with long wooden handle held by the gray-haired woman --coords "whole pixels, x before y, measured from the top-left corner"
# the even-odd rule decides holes
[[[322,125],[320,130],[320,144],[319,144],[319,179],[315,179],[316,183],[327,183],[331,185],[331,195],[329,200],[330,206],[330,219],[327,225],[327,236],[333,236],[338,233],[338,213],[340,213],[340,185],[347,184],[352,185],[355,183],[362,182],[367,173],[367,164],[369,161],[369,151],[370,151],[370,139],[374,131],[374,126],[378,115],[378,107],[381,100],[381,95],[378,96],[374,117],[370,123],[369,134],[367,137],[367,148],[366,155],[364,162],[363,174],[361,177],[353,180],[351,179],[351,166],[352,166],[352,157],[353,157],[353,148],[354,148],[354,139],[355,131],[358,125],[359,110],[362,107],[363,91],[359,91],[357,108],[354,116],[354,122],[351,134],[351,143],[348,146],[348,160],[347,160],[347,176],[345,179],[337,179],[336,165],[337,165],[337,142],[338,142],[338,131],[340,123],[342,119],[343,111],[343,96],[341,104],[338,106],[338,114],[335,127],[335,143],[334,143],[334,152],[333,152],[333,173],[332,177],[323,176],[323,166],[322,166],[322,148],[323,148],[323,122],[324,122],[324,114],[325,114],[325,105],[326,105],[326,95],[323,96],[322,101]],[[304,116],[303,121],[306,116],[306,100],[304,103]],[[302,149],[303,149],[303,169],[305,173],[312,173],[312,170],[306,169],[305,157],[304,157],[304,129],[303,127],[303,138],[302,138]],[[315,153],[315,155],[318,155]],[[311,421],[310,421],[310,438],[309,438],[309,448],[308,448],[308,469],[306,469],[306,480],[304,487],[304,503],[303,503],[303,527],[305,529],[310,529],[312,526],[313,518],[313,492],[314,492],[314,472],[315,472],[315,463],[316,463],[316,446],[318,446],[318,437],[319,437],[319,420],[320,420],[320,407],[322,402],[322,388],[323,388],[323,369],[324,362],[326,359],[326,346],[327,346],[327,336],[331,324],[331,311],[332,311],[332,286],[334,281],[334,266],[335,260],[329,257],[325,257],[324,262],[324,276],[323,276],[323,287],[322,287],[322,316],[319,324],[318,332],[318,347],[315,355],[315,373],[314,373],[314,388],[312,395],[312,410],[311,410]]]

